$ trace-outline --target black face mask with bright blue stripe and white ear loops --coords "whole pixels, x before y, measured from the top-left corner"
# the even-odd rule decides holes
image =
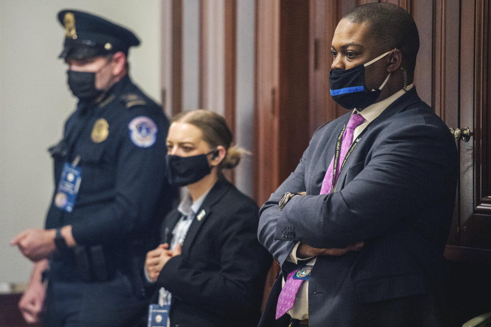
[[[346,109],[356,108],[362,110],[377,100],[389,75],[376,90],[365,88],[365,67],[387,56],[390,51],[376,57],[365,64],[360,64],[349,69],[334,68],[329,72],[329,88],[331,97]]]

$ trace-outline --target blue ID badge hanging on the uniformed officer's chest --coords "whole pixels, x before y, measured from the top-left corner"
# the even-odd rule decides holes
[[[60,182],[55,195],[55,205],[71,213],[75,206],[78,189],[82,181],[82,170],[77,167],[80,157],[76,157],[72,164],[65,162],[63,171],[61,172]]]

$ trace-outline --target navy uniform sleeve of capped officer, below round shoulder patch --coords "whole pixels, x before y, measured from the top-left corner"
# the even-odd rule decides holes
[[[79,244],[99,244],[142,235],[148,230],[165,187],[165,137],[168,123],[163,115],[148,115],[144,108],[132,109],[128,122],[149,116],[158,126],[155,143],[139,147],[131,141],[128,124],[122,125],[115,162],[114,200],[94,212],[92,219],[72,224]]]

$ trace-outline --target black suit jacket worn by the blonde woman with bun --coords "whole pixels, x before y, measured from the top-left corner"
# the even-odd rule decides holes
[[[169,243],[181,214],[162,228]],[[225,178],[208,193],[157,285],[172,293],[171,326],[256,326],[272,257],[256,238],[258,207]]]

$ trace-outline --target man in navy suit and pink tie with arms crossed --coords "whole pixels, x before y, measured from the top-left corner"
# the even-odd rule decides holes
[[[398,6],[347,13],[330,92],[349,110],[321,126],[260,210],[281,265],[259,326],[443,326],[439,265],[458,154],[413,85],[419,36]]]

